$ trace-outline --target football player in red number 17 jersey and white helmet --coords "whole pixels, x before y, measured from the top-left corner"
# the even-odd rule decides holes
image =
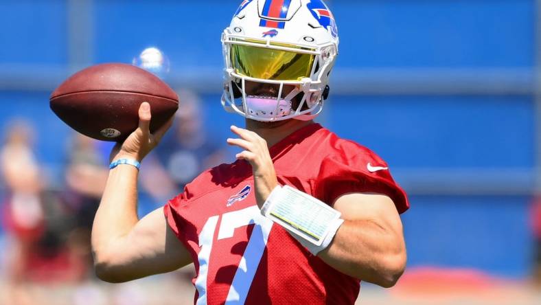
[[[244,0],[222,34],[222,105],[246,117],[237,161],[200,174],[137,218],[139,163],[168,126],[111,153],[95,216],[95,271],[125,282],[194,262],[196,304],[354,304],[360,280],[393,286],[406,264],[406,194],[371,150],[315,124],[338,54],[321,0]]]

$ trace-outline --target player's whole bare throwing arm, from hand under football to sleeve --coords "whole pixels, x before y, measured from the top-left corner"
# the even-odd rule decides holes
[[[171,120],[154,135],[149,124],[150,106],[143,103],[139,127],[111,153],[111,172],[92,228],[95,271],[107,282],[135,280],[192,262],[165,223],[163,209],[137,219],[139,162],[158,144]]]

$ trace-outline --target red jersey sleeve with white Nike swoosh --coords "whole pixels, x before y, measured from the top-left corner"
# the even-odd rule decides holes
[[[400,214],[409,208],[406,193],[391,177],[387,163],[355,144],[323,159],[314,189],[317,197],[330,205],[343,194],[376,192],[389,196]]]

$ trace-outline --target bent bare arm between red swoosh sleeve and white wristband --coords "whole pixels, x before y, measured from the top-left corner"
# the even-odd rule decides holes
[[[354,278],[393,286],[406,265],[398,211],[383,194],[343,194],[334,203],[345,220],[323,260]]]

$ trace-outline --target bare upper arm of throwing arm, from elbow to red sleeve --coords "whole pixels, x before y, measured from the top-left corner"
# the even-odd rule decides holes
[[[163,208],[141,218],[112,249],[100,270],[100,278],[108,282],[126,282],[174,271],[192,262],[189,252],[165,221]]]

